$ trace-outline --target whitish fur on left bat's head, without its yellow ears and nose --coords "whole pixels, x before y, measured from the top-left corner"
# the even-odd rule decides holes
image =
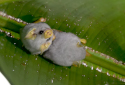
[[[36,38],[34,40],[31,39],[25,39],[25,36],[30,32],[33,28],[36,28],[35,33]],[[42,54],[40,50],[40,46],[44,44],[45,42],[52,43],[52,37],[49,41],[46,41],[47,39],[44,38],[44,33],[42,35],[39,34],[39,31],[46,29],[51,29],[50,26],[46,23],[31,23],[26,25],[21,30],[21,41],[23,42],[24,47],[29,50],[32,54]],[[46,51],[46,50],[45,50]]]

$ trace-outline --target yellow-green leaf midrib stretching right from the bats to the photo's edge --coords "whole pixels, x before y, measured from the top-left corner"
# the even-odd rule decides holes
[[[116,63],[112,57],[102,56],[99,52],[96,53],[89,49],[87,51],[90,53],[90,56],[87,56],[85,60],[125,76],[125,65]]]

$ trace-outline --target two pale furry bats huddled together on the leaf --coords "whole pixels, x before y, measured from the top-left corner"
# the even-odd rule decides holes
[[[61,66],[78,65],[84,59],[85,39],[79,39],[72,33],[53,30],[40,18],[21,30],[24,47],[32,54],[43,54],[53,63]]]

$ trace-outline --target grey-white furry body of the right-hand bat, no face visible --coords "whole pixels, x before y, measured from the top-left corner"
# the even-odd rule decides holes
[[[56,30],[54,34],[56,38],[45,52],[45,58],[61,66],[71,66],[74,61],[80,61],[85,58],[85,48],[77,46],[77,43],[81,42],[76,35]]]

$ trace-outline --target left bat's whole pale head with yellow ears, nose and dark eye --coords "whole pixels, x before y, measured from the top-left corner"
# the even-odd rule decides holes
[[[52,43],[53,30],[46,23],[32,23],[24,27],[22,36],[24,45],[25,42],[26,45],[29,43],[32,48],[40,49],[41,53],[43,53]]]

